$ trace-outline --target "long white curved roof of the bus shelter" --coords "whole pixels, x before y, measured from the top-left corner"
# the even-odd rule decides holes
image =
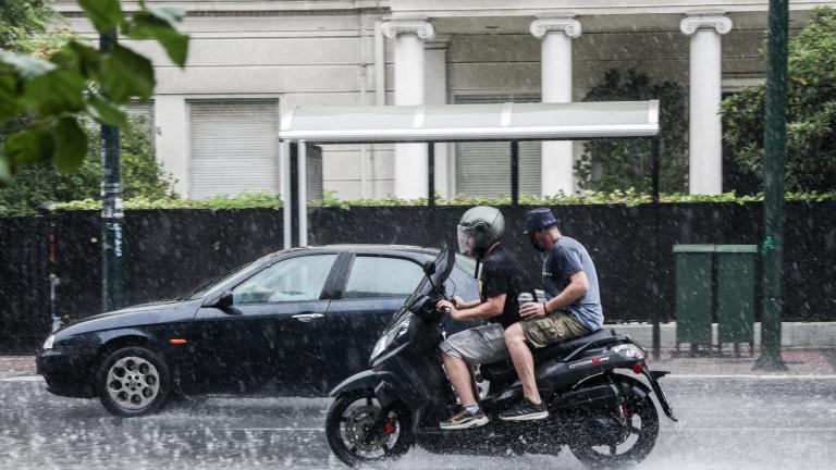
[[[296,107],[281,140],[362,144],[586,140],[659,134],[659,100],[385,107]]]

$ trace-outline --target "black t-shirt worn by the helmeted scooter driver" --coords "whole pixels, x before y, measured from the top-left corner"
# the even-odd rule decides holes
[[[502,314],[489,319],[506,329],[519,321],[517,297],[527,292],[537,299],[534,289],[529,285],[522,265],[503,246],[491,251],[482,261],[479,276],[479,296],[482,301],[505,294],[505,307]]]

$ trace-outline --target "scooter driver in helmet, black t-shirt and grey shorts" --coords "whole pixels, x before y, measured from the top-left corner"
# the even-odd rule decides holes
[[[480,298],[465,301],[455,297],[455,302],[441,300],[437,308],[440,311],[448,308],[454,320],[483,319],[490,323],[451,335],[440,346],[447,376],[462,403],[459,412],[440,423],[443,429],[488,423],[474,393],[468,362],[491,363],[508,357],[505,329],[519,321],[517,297],[521,293],[533,296],[522,267],[499,242],[504,230],[502,213],[492,207],[475,207],[465,212],[458,223],[459,251],[482,263]]]

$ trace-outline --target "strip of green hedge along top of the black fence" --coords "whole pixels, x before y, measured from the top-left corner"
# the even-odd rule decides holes
[[[836,200],[836,191],[831,193],[787,193],[785,195],[788,201],[832,201]],[[660,197],[663,203],[671,202],[736,202],[746,203],[763,200],[763,195],[737,196],[734,193],[725,193],[716,196],[702,195],[683,195],[683,194],[663,194]],[[626,191],[615,190],[612,193],[585,191],[568,196],[554,196],[539,198],[532,195],[520,195],[519,203],[526,206],[593,206],[593,205],[624,205],[638,206],[651,202],[649,194],[637,193],[632,189]],[[459,195],[453,199],[442,199],[437,197],[435,203],[439,206],[507,206],[511,205],[509,196],[497,197],[471,197]],[[379,207],[379,206],[426,206],[427,199],[358,199],[341,200],[333,193],[325,193],[322,200],[311,200],[312,207],[339,207],[349,209],[352,207]],[[281,209],[282,201],[278,196],[268,193],[243,194],[236,197],[219,196],[209,199],[148,199],[133,198],[125,200],[125,209],[247,209],[266,208]],[[59,202],[52,207],[53,210],[100,210],[101,201],[97,199],[84,199],[72,202]]]

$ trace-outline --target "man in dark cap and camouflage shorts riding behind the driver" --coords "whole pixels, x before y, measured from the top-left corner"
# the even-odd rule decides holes
[[[533,209],[526,218],[524,232],[531,245],[546,252],[543,288],[546,302],[526,302],[520,320],[505,330],[505,344],[522,383],[525,399],[500,415],[505,421],[539,419],[545,409],[534,380],[534,360],[529,345],[546,345],[586,336],[604,324],[595,265],[578,240],[564,236],[548,208]]]

